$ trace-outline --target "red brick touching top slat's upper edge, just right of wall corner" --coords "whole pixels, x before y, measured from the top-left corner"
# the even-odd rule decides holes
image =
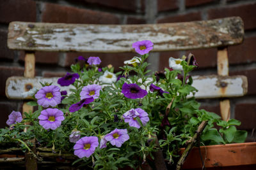
[[[172,17],[164,17],[157,20],[157,23],[168,23],[168,22],[189,22],[194,20],[202,20],[200,12],[191,12],[183,15],[175,15]]]

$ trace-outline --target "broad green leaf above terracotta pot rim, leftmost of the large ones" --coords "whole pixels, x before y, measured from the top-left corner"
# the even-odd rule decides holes
[[[220,136],[217,129],[209,129],[204,134],[202,134],[201,139],[203,141],[215,141],[216,143],[224,143],[225,144],[225,141]]]

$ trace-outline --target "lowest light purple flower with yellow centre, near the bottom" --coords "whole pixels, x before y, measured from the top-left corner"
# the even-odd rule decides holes
[[[95,136],[85,136],[74,145],[74,155],[79,158],[90,157],[95,152],[95,148],[99,146],[98,138]]]

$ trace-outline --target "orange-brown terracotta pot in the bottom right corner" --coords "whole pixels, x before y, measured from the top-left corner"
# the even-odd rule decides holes
[[[185,148],[181,148],[181,154]],[[256,169],[256,142],[200,146],[207,169]],[[202,169],[199,150],[193,148],[182,169]]]

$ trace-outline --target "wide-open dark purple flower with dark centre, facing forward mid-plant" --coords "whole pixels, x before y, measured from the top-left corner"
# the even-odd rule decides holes
[[[122,93],[129,99],[142,98],[148,94],[146,90],[141,89],[140,86],[136,85],[135,83],[124,83]]]

